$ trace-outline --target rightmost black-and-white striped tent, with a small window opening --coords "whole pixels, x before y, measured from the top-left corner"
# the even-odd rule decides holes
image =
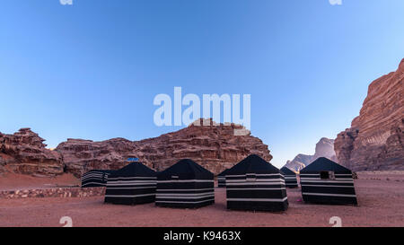
[[[357,205],[352,171],[325,157],[300,171],[304,202]]]

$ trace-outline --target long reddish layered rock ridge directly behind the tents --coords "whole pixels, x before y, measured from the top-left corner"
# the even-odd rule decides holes
[[[202,125],[202,124],[200,124]],[[268,162],[272,159],[268,145],[250,134],[235,136],[242,126],[220,124],[214,126],[194,124],[179,131],[155,138],[131,142],[115,138],[102,142],[68,139],[57,146],[63,155],[66,171],[80,176],[92,169],[116,170],[127,164],[128,157],[162,171],[180,159],[190,158],[215,174],[232,167],[251,153],[258,154]]]

